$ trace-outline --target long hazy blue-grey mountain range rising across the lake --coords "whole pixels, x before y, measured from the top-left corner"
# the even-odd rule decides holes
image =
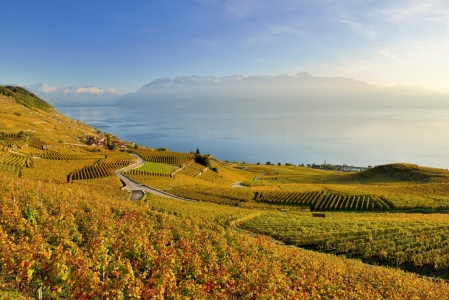
[[[420,86],[385,87],[345,77],[316,77],[306,72],[247,77],[192,75],[154,80],[135,93],[124,95],[117,105],[187,105],[220,110],[422,109],[449,108],[449,95]]]

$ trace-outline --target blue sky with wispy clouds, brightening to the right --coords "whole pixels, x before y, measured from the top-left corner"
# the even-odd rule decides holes
[[[449,92],[447,0],[3,1],[0,83],[308,72]]]

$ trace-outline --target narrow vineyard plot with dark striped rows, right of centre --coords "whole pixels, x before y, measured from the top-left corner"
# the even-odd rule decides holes
[[[257,192],[257,202],[283,205],[308,206],[313,211],[326,210],[388,210],[389,205],[378,197],[371,195],[344,195],[339,193],[322,192]]]

